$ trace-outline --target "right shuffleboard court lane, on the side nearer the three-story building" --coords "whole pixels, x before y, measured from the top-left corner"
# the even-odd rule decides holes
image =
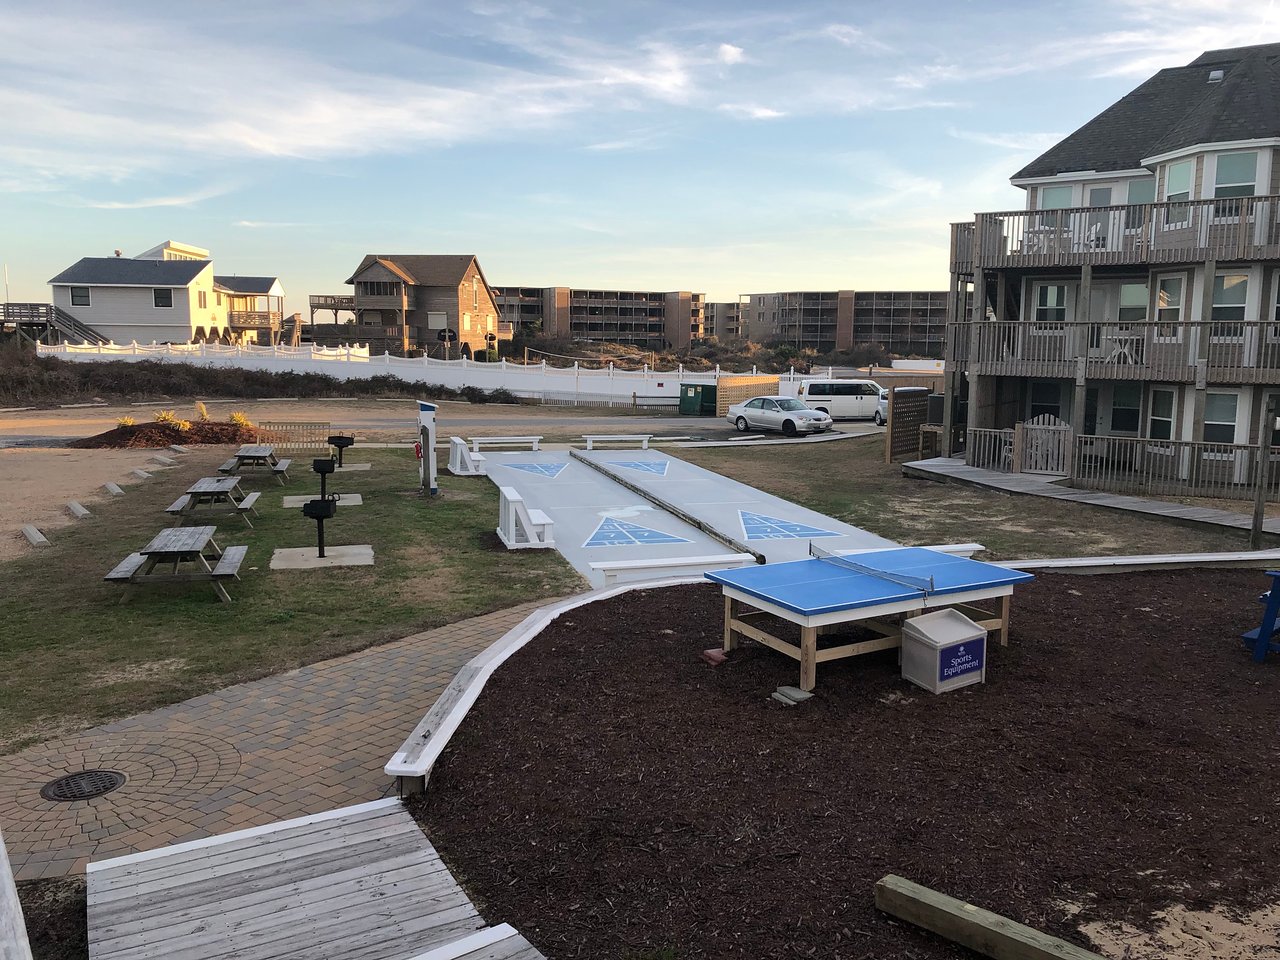
[[[664,451],[575,451],[575,456],[764,554],[769,563],[805,559],[810,541],[832,552],[900,545]]]

